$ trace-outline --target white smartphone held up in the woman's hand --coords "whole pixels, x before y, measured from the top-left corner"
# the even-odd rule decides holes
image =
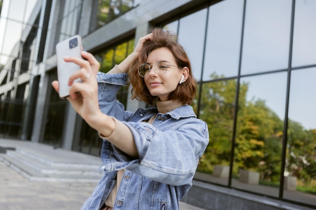
[[[56,45],[57,55],[57,75],[59,82],[59,97],[65,99],[69,96],[70,86],[68,86],[69,77],[80,69],[80,65],[73,62],[66,62],[65,56],[81,57],[81,37],[75,35],[64,41],[59,42]],[[74,82],[82,82],[81,79],[77,79]]]

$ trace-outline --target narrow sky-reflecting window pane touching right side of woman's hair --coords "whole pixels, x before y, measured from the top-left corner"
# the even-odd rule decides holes
[[[186,49],[197,81],[200,81],[202,72],[206,14],[207,10],[203,9],[181,18],[179,22],[179,43]]]

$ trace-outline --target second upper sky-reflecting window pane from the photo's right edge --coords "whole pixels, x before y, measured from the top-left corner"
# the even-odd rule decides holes
[[[246,3],[241,74],[288,66],[292,1]]]

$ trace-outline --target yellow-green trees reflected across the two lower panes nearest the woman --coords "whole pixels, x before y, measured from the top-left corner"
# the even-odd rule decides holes
[[[222,77],[223,78],[223,77]],[[212,79],[221,79],[216,74]],[[246,101],[248,83],[240,84],[234,174],[240,168],[260,172],[262,179],[280,177],[283,121],[265,101]],[[229,165],[235,113],[236,80],[203,84],[200,115],[209,129],[209,144],[199,171],[212,173],[215,165]],[[196,110],[196,101],[193,104]]]

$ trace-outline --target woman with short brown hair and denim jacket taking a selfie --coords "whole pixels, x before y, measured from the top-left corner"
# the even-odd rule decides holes
[[[186,52],[156,28],[108,74],[98,73],[90,53],[82,57],[65,58],[82,67],[69,80],[68,100],[103,138],[105,172],[82,209],[179,209],[208,144],[207,125],[189,106],[196,83]],[[128,72],[132,98],[156,108],[130,112],[116,100]],[[73,83],[77,78],[83,82]],[[58,82],[52,85],[58,91]]]

